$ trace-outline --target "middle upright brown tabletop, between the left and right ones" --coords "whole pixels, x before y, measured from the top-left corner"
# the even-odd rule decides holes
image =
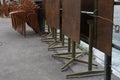
[[[81,0],[63,0],[62,8],[63,34],[79,43]]]

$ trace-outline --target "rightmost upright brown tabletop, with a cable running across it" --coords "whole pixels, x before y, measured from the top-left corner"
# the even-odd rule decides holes
[[[111,55],[112,48],[113,24],[110,21],[113,21],[113,3],[114,0],[98,0],[98,16],[107,19],[98,18],[97,20],[96,47],[107,55]]]

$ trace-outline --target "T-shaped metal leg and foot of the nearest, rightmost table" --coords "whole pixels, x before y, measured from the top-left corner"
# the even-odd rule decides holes
[[[66,77],[73,77],[73,76],[78,76],[78,75],[88,75],[88,74],[96,74],[96,73],[103,73],[104,70],[97,70],[97,71],[93,71],[92,70],[92,56],[93,56],[93,36],[94,36],[94,24],[92,20],[88,21],[89,24],[89,60],[88,60],[88,71],[86,72],[79,72],[79,73],[72,73],[72,74],[68,74]]]

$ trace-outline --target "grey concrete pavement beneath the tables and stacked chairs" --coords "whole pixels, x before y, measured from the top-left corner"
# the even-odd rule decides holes
[[[47,48],[30,28],[24,38],[12,28],[9,18],[0,18],[0,80],[104,80],[103,75],[66,79],[66,74],[87,70],[87,65],[75,63],[61,72],[65,61],[52,58],[55,52]],[[112,76],[112,80],[120,79]]]

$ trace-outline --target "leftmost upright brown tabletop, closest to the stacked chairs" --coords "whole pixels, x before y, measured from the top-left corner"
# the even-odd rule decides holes
[[[45,0],[46,22],[50,27],[59,28],[60,0]]]

